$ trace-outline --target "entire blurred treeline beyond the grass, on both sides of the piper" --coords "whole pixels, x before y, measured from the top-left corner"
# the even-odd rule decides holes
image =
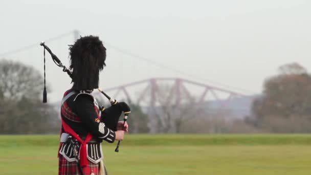
[[[59,133],[59,109],[41,101],[43,78],[33,67],[0,60],[0,134]],[[156,107],[130,104],[130,133],[310,133],[311,76],[285,64],[263,83],[252,113],[232,119],[230,110],[209,108],[189,94],[181,101],[158,87]],[[179,101],[179,102],[177,102]],[[146,114],[146,111],[148,113]]]

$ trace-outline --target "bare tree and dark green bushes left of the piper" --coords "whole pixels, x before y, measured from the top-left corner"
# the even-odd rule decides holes
[[[0,60],[0,134],[59,132],[58,113],[39,99],[42,82],[33,67]]]

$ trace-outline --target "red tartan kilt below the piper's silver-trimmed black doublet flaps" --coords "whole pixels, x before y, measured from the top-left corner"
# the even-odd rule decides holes
[[[95,164],[87,160],[87,166],[83,167],[83,174],[90,175],[94,173],[99,175],[99,163]],[[80,175],[77,163],[68,162],[63,156],[59,156],[58,175]]]

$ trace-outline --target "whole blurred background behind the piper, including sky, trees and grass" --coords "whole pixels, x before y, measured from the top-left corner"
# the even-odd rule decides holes
[[[1,1],[0,174],[57,174],[69,46],[107,48],[131,107],[109,174],[311,174],[311,1]],[[94,96],[110,106],[98,91]],[[122,163],[121,163],[122,162]],[[121,165],[121,166],[120,166]]]

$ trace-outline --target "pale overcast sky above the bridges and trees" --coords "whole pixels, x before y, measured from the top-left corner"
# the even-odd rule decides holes
[[[102,88],[150,77],[183,77],[260,93],[285,63],[311,70],[311,1],[1,1],[0,54],[68,33],[98,35],[107,47]],[[47,42],[68,65],[73,34]],[[157,61],[166,68],[121,53]],[[1,56],[42,72],[42,48]],[[48,60],[52,101],[70,80]],[[177,71],[173,71],[177,70]],[[183,73],[181,73],[183,72]]]

